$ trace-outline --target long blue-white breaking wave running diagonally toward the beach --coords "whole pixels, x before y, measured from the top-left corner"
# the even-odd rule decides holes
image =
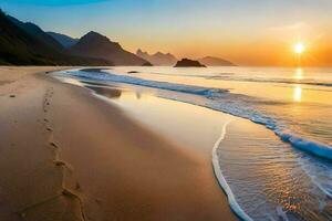
[[[138,86],[146,86],[158,90],[167,90],[205,96],[208,98],[208,102],[205,102],[204,104],[197,104],[197,101],[191,101],[187,97],[181,96],[176,96],[174,97],[174,99],[205,106],[215,110],[221,110],[234,116],[250,119],[253,123],[264,125],[267,128],[274,131],[274,134],[279,136],[281,140],[291,144],[292,147],[304,150],[311,155],[332,160],[331,146],[309,140],[303,137],[299,137],[295,134],[288,131],[286,129],[287,126],[283,123],[281,123],[281,120],[278,120],[274,116],[269,116],[264,113],[261,113],[255,104],[259,102],[264,103],[266,101],[260,101],[258,98],[250,97],[247,95],[232,94],[229,93],[228,90],[222,88],[209,88],[184,84],[174,84],[168,82],[149,81],[138,78],[135,76],[111,74],[101,70],[96,70],[95,72],[91,70],[89,72],[84,72],[84,70],[75,70],[69,71],[68,73],[72,76],[90,78],[94,81],[126,83]],[[168,96],[165,98],[172,98],[172,95],[163,96]]]

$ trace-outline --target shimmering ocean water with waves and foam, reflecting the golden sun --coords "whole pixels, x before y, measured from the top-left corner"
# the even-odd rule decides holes
[[[243,220],[332,220],[332,69],[120,66],[55,75],[249,119],[225,127],[214,150],[232,209]]]

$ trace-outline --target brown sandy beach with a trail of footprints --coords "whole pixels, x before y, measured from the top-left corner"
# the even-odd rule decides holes
[[[237,220],[206,155],[59,69],[0,67],[0,220]]]

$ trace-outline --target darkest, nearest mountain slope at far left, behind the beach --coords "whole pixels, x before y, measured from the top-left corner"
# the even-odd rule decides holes
[[[55,42],[55,43],[54,43]],[[24,24],[0,9],[0,64],[4,65],[110,65],[100,59],[68,55],[35,24]]]

